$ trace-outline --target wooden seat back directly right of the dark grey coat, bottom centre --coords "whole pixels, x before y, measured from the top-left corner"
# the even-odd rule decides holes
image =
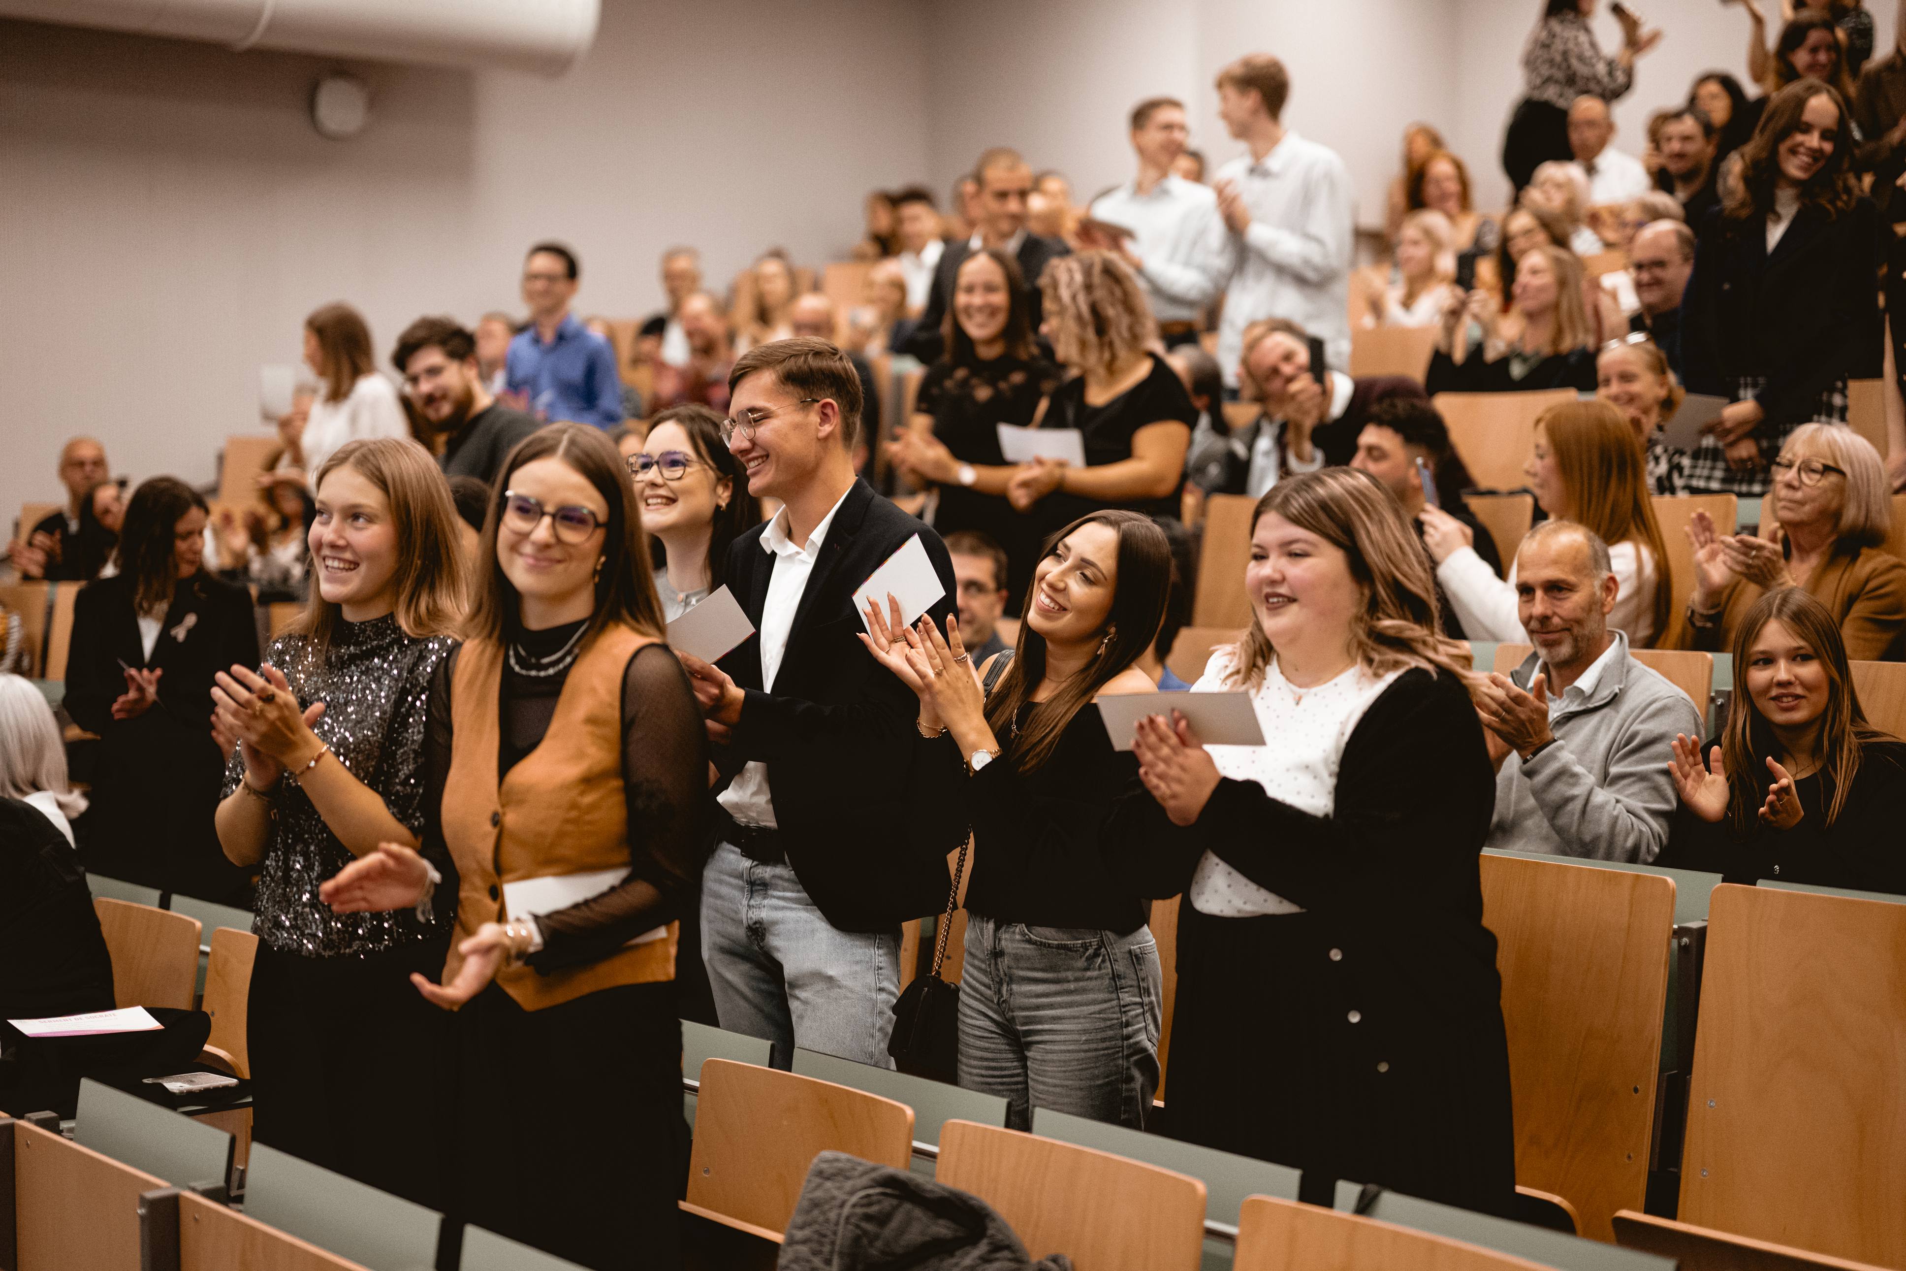
[[[1033,1258],[1077,1271],[1195,1271],[1205,1183],[1155,1164],[1018,1130],[949,1120],[934,1180],[980,1197]]]

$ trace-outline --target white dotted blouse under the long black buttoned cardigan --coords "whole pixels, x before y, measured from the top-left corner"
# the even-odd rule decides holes
[[[1229,682],[1231,665],[1233,650],[1220,648],[1191,692],[1233,692],[1237,684]],[[1355,665],[1327,684],[1294,688],[1273,657],[1264,671],[1264,684],[1250,696],[1264,745],[1205,749],[1220,776],[1256,781],[1266,795],[1298,812],[1330,816],[1336,810],[1336,770],[1344,762],[1344,745],[1363,713],[1399,675],[1403,673],[1372,675]],[[1304,913],[1302,905],[1258,886],[1212,852],[1199,859],[1186,898],[1193,909],[1214,918]]]

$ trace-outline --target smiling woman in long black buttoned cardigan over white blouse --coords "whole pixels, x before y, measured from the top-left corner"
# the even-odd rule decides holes
[[[1264,745],[1142,720],[1105,831],[1125,886],[1184,892],[1166,1128],[1302,1168],[1306,1200],[1353,1178],[1508,1214],[1494,776],[1430,562],[1332,467],[1258,501],[1243,581],[1250,629],[1191,692],[1250,694]]]

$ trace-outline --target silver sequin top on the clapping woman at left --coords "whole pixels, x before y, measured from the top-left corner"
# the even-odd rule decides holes
[[[364,785],[383,797],[398,821],[423,833],[423,716],[431,673],[456,640],[404,635],[396,617],[337,623],[326,654],[301,635],[278,636],[265,661],[278,667],[297,694],[299,707],[324,703],[313,724],[320,741]],[[330,760],[324,760],[330,762]],[[225,793],[238,789],[244,762],[234,755],[225,770]],[[416,939],[440,938],[454,920],[440,907],[431,922],[416,911],[332,913],[318,899],[318,884],[351,863],[351,850],[337,840],[311,798],[286,777],[273,798],[278,814],[257,880],[253,932],[273,949],[311,958],[381,953]]]

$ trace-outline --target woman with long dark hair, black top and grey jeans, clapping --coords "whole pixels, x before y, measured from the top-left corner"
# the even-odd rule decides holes
[[[1136,663],[1170,583],[1165,532],[1105,511],[1052,537],[1018,654],[980,676],[957,619],[942,638],[924,619],[890,631],[884,602],[867,612],[862,640],[921,697],[932,802],[972,825],[959,1084],[1004,1098],[1012,1130],[1031,1128],[1033,1105],[1132,1128],[1151,1111],[1159,949],[1144,896],[1113,880],[1100,844],[1138,760],[1113,749],[1092,699],[1155,692]]]

